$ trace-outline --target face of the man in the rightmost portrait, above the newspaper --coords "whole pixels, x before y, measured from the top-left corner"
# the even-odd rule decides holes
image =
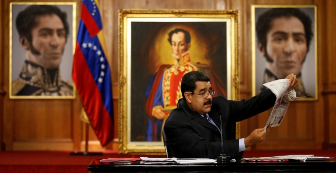
[[[304,26],[298,18],[275,18],[266,34],[266,43],[266,50],[261,48],[261,52],[273,61],[267,62],[266,68],[277,78],[300,73],[307,46]]]

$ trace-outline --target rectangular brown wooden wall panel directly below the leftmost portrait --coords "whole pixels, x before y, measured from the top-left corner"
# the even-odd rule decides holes
[[[71,139],[71,101],[15,101],[14,107],[20,109],[12,114],[16,122],[14,139]]]

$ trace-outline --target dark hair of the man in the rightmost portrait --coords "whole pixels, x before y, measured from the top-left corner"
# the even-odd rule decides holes
[[[313,37],[312,20],[308,15],[298,8],[272,8],[258,17],[258,21],[256,23],[258,43],[260,43],[265,50],[267,44],[266,35],[271,28],[272,21],[279,17],[291,16],[297,17],[302,22],[305,32],[305,39],[307,41],[307,52],[309,51],[309,46]]]

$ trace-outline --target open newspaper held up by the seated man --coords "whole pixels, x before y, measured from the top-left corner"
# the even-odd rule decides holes
[[[279,79],[264,83],[264,86],[271,90],[276,96],[275,104],[265,126],[265,132],[268,126],[279,126],[284,120],[289,103],[301,98],[296,97],[294,89],[288,90],[290,85],[288,82],[289,79]]]

